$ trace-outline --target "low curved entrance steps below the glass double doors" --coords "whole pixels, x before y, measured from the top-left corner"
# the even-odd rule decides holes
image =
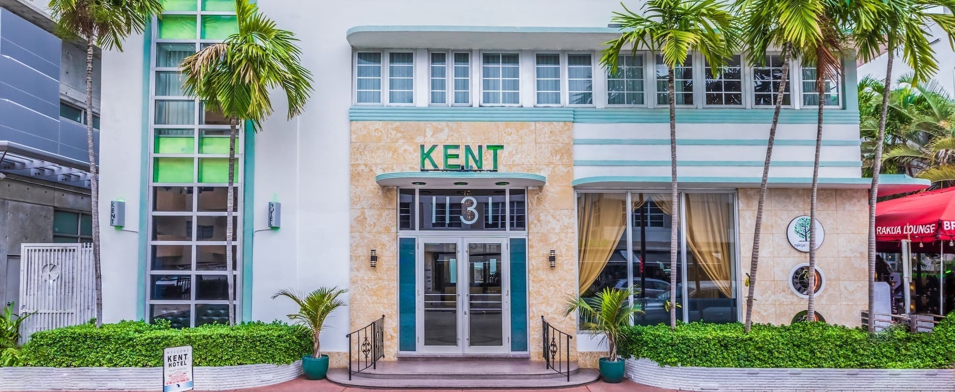
[[[569,388],[596,382],[596,369],[570,362],[570,380],[543,361],[506,358],[416,357],[421,361],[378,361],[377,366],[351,376],[348,369],[329,369],[329,381],[365,388],[520,389]]]

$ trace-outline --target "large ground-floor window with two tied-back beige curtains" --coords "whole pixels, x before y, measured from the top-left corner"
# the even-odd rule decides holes
[[[634,318],[639,324],[668,322],[668,302],[682,306],[679,320],[737,320],[733,196],[690,193],[680,200],[683,219],[674,222],[668,194],[579,194],[580,293],[634,286],[633,300],[645,312]],[[675,266],[673,224],[679,228]],[[676,300],[670,299],[671,274],[676,274]]]

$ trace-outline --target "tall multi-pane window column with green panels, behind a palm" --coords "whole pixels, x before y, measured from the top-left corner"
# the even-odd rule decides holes
[[[164,0],[173,13],[154,20],[152,181],[149,195],[147,320],[174,327],[228,321],[225,275],[229,121],[181,88],[180,63],[237,31],[234,2]],[[201,40],[203,40],[201,42]],[[237,134],[232,263],[242,299],[242,130]],[[237,307],[237,310],[240,309]]]

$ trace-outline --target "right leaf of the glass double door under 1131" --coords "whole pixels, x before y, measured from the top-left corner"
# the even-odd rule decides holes
[[[467,242],[468,352],[500,352],[505,349],[505,277],[503,244],[477,239]]]

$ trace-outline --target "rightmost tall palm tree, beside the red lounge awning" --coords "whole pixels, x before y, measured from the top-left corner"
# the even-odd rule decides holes
[[[902,60],[912,68],[912,81],[919,84],[937,72],[935,60],[925,30],[936,24],[949,36],[955,35],[955,16],[951,13],[933,13],[929,10],[942,7],[949,12],[955,11],[955,0],[884,0],[879,17],[871,25],[859,26],[852,31],[853,39],[858,43],[859,54],[863,61],[871,61],[881,55],[885,48],[885,89],[882,93],[882,105],[879,116],[879,131],[876,135],[873,156],[872,185],[869,189],[869,314],[875,313],[876,300],[876,202],[879,196],[879,175],[881,172],[882,143],[885,139],[885,121],[888,116],[889,94],[887,88],[892,82],[892,63],[895,53],[902,52]],[[875,332],[875,324],[870,322],[869,332]]]

